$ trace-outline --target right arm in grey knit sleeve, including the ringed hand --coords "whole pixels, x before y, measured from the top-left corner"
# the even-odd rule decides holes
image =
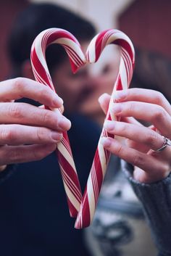
[[[107,98],[100,99],[104,111]],[[119,104],[114,104],[113,110],[122,118],[121,122],[110,121],[104,126],[109,133],[125,139],[121,143],[107,138],[102,144],[132,165],[132,170],[124,168],[125,173],[143,204],[159,255],[167,256],[171,254],[171,146],[162,152],[155,150],[164,142],[162,135],[171,138],[171,107],[162,94],[145,89],[128,89],[125,94],[119,92],[116,98]],[[133,117],[151,122],[159,132]]]

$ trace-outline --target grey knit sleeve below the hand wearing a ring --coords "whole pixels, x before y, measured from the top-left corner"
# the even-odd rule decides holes
[[[162,181],[140,183],[132,176],[133,166],[122,161],[122,170],[143,205],[158,256],[171,255],[171,174]]]

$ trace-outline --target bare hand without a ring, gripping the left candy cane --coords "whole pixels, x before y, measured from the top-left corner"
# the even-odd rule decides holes
[[[62,108],[62,99],[48,86],[27,78],[0,83],[0,165],[40,160],[56,149],[62,131],[70,121],[59,111],[52,112],[26,103],[22,97],[51,108]]]

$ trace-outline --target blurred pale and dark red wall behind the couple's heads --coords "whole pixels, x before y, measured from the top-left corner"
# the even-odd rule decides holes
[[[128,34],[136,48],[159,54],[160,57],[166,60],[171,58],[170,0],[32,1],[61,4],[84,17],[88,17],[99,31],[107,28],[119,28]],[[26,0],[0,1],[0,80],[7,78],[10,70],[6,49],[7,35],[17,13],[24,9],[28,2]],[[146,55],[143,56],[143,61],[145,61]],[[165,72],[164,83],[166,84],[168,78],[165,76],[168,76],[168,74],[166,70],[163,72]]]

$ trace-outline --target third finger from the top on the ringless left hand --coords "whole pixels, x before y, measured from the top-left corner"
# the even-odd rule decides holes
[[[62,133],[43,127],[0,125],[0,145],[49,144],[61,141]]]

